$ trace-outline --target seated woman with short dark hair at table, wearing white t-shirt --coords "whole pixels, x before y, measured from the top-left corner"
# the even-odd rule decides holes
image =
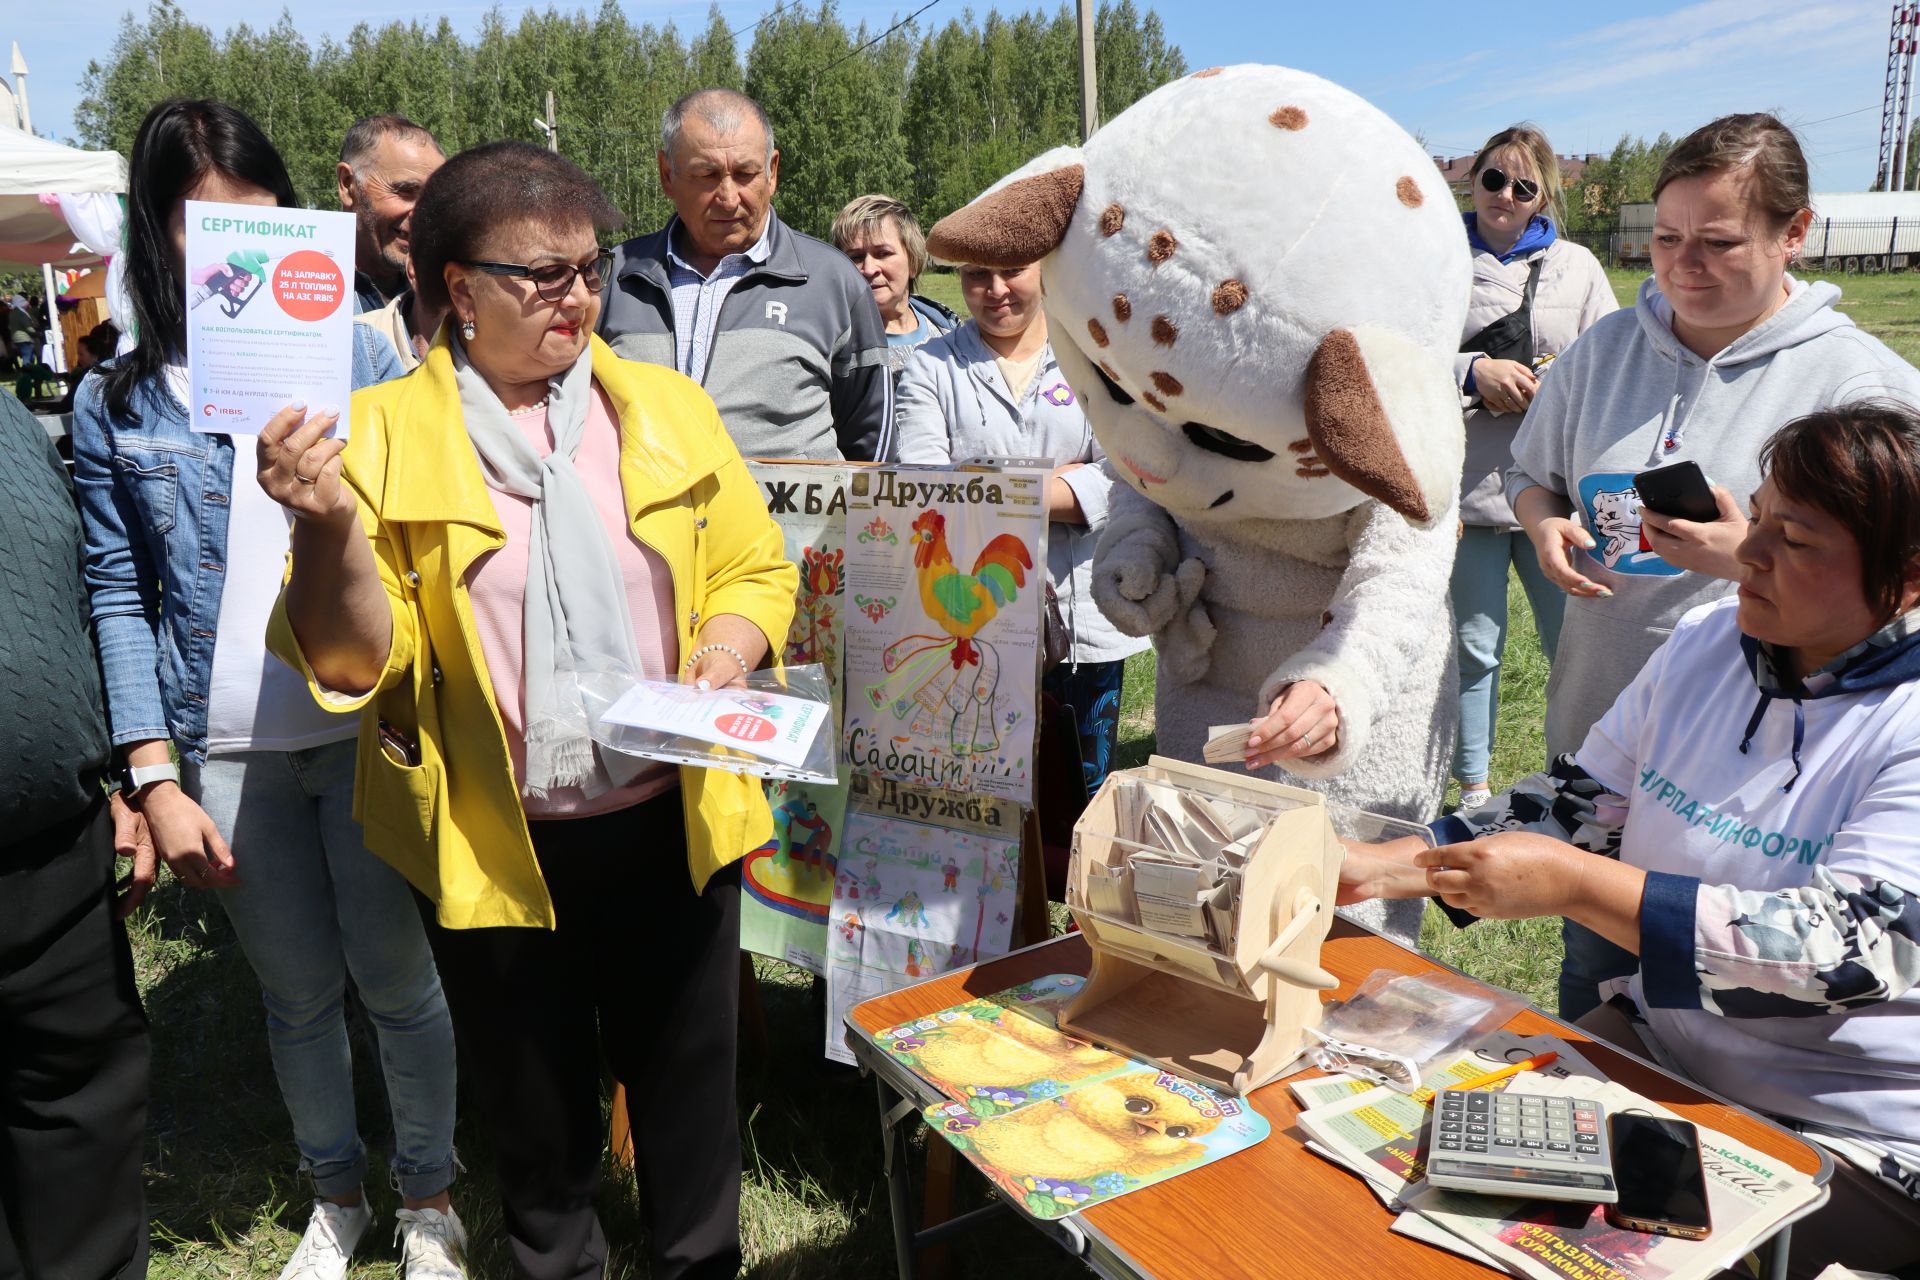
[[[1436,848],[1350,850],[1346,902],[1580,921],[1634,961],[1582,1027],[1839,1159],[1793,1274],[1920,1265],[1920,415],[1761,449],[1738,599],[1690,610],[1576,754]]]

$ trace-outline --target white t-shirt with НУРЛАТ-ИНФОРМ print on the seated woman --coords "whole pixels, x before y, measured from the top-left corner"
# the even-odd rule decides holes
[[[1740,750],[1761,693],[1740,651],[1738,604],[1688,612],[1580,747],[1580,768],[1628,798],[1620,860],[1747,890],[1809,885],[1814,867],[1920,890],[1920,685],[1803,700],[1801,775],[1784,791],[1789,699],[1768,704]],[[1715,933],[1740,925],[1699,921]],[[1768,936],[1753,921],[1745,946]],[[1920,986],[1807,1017],[1649,1007],[1640,977],[1632,994],[1707,1088],[1920,1155]]]

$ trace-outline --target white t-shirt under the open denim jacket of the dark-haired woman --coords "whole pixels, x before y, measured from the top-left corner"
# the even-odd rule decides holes
[[[167,367],[167,388],[186,405],[186,368]],[[303,750],[359,733],[357,716],[319,708],[307,681],[267,652],[267,618],[286,572],[292,516],[253,482],[252,438],[234,453],[227,501],[227,574],[213,624],[213,681],[207,689],[207,754]]]

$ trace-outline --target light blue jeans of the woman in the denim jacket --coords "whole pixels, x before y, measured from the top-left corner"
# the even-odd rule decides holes
[[[184,764],[188,794],[227,837],[240,885],[219,890],[267,1002],[267,1046],[300,1163],[321,1196],[367,1176],[353,1113],[346,981],[380,1042],[394,1184],[453,1184],[453,1021],[413,892],[361,842],[355,743]]]

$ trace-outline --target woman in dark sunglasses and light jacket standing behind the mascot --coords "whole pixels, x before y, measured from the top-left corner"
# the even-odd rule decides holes
[[[1617,311],[1599,261],[1561,240],[1559,163],[1532,125],[1501,129],[1473,157],[1473,301],[1453,372],[1467,409],[1467,466],[1459,486],[1461,537],[1453,557],[1459,651],[1459,806],[1486,804],[1507,649],[1507,566],[1534,608],[1540,649],[1553,658],[1563,599],[1507,507],[1513,434],[1546,365],[1599,317]]]

